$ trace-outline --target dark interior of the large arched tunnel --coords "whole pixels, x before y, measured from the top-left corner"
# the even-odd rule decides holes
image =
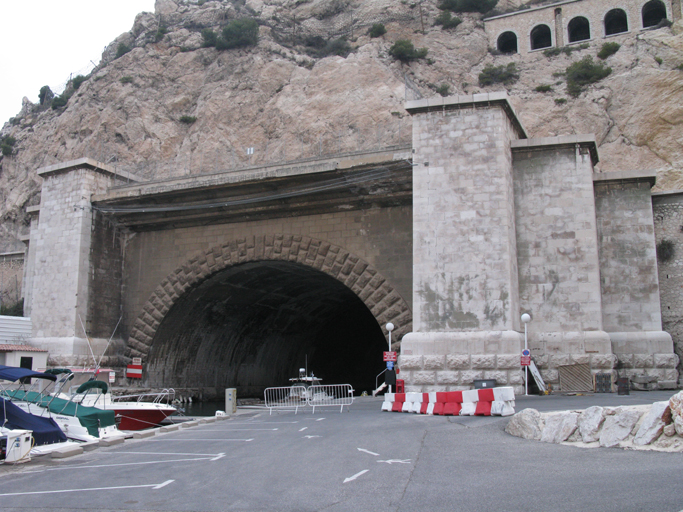
[[[263,397],[308,362],[323,384],[370,392],[386,340],[350,289],[294,262],[262,261],[218,272],[178,299],[161,322],[147,364],[150,386],[199,388],[204,399],[237,388]]]

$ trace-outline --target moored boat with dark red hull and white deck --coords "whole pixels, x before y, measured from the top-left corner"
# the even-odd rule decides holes
[[[60,398],[73,403],[95,407],[104,411],[113,411],[119,430],[143,430],[158,426],[168,416],[178,410],[171,405],[175,392],[164,389],[160,393],[142,393],[113,397],[107,382],[97,380],[100,374],[107,375],[109,370],[100,369],[59,369],[72,372],[73,383],[67,392],[62,391]],[[57,371],[57,370],[48,370]],[[83,377],[88,380],[83,381]],[[63,386],[62,386],[63,387]]]

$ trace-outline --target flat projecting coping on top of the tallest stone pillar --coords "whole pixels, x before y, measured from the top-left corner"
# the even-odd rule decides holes
[[[512,125],[520,139],[526,139],[527,132],[519,120],[514,107],[510,104],[507,92],[497,91],[480,94],[458,94],[453,96],[433,96],[421,100],[406,102],[406,110],[409,114],[422,114],[425,112],[442,112],[444,110],[460,110],[465,108],[482,108],[499,106],[508,115]]]

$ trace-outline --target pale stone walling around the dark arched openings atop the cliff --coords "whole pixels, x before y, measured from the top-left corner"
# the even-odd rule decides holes
[[[641,11],[649,0],[574,0],[557,2],[555,4],[542,7],[531,8],[515,13],[504,14],[485,20],[486,33],[489,37],[489,46],[497,48],[498,37],[507,31],[517,35],[517,48],[521,54],[531,52],[531,31],[538,25],[547,25],[552,34],[552,46],[564,46],[568,43],[569,22],[577,17],[583,16],[588,19],[590,24],[590,39],[604,39],[605,36],[605,15],[612,9],[622,9],[626,12],[628,21],[628,32],[634,35],[643,28]],[[680,0],[673,0],[679,2]],[[663,0],[666,7],[667,18],[674,19],[674,15],[680,16],[680,5],[678,9],[673,9],[671,0]],[[555,10],[561,9],[561,34],[556,33]],[[674,12],[676,11],[676,12]],[[586,41],[581,41],[586,42]],[[533,50],[542,51],[542,50]]]

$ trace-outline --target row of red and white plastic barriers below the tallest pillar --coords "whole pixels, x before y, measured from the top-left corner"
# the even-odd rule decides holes
[[[432,393],[386,393],[382,410],[441,416],[511,416],[515,413],[512,387]]]

